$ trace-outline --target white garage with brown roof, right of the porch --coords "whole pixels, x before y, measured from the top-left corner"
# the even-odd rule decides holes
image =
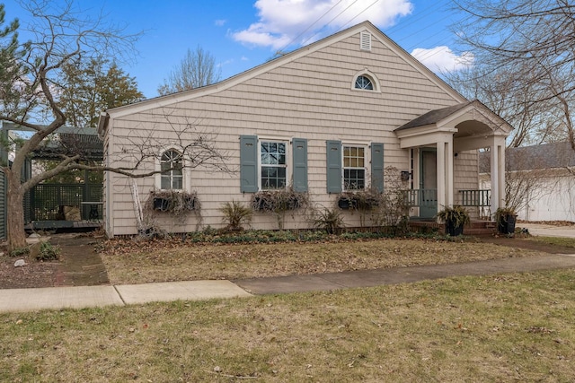
[[[480,153],[480,187],[490,187],[490,153]],[[575,222],[575,151],[571,143],[506,151],[506,204],[524,221]]]

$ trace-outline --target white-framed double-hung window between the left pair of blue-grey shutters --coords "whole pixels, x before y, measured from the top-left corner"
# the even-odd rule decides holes
[[[287,183],[287,143],[260,141],[261,189],[285,188]]]

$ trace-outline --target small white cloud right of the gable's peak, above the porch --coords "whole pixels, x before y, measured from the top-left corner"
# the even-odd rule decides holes
[[[473,53],[463,52],[457,56],[449,47],[441,46],[431,49],[416,48],[411,52],[411,56],[420,60],[421,64],[427,66],[436,74],[456,72],[473,66]]]

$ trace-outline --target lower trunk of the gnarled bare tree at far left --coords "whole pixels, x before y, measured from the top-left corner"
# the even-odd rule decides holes
[[[26,246],[26,232],[24,231],[24,192],[20,181],[20,172],[6,171],[8,180],[7,195],[7,231],[8,251]]]

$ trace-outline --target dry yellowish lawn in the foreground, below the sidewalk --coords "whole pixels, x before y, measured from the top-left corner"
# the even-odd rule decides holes
[[[571,269],[4,314],[0,381],[566,382],[573,286]]]

